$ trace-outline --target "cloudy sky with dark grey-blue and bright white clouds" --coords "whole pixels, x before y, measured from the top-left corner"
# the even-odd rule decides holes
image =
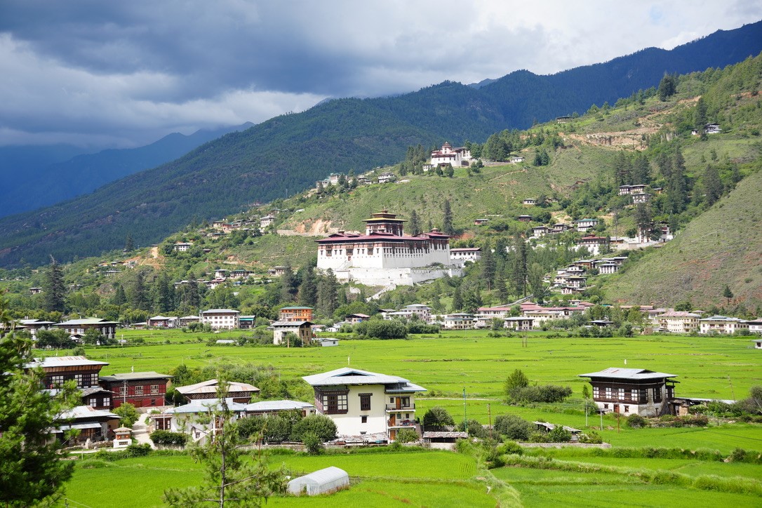
[[[0,146],[129,148],[760,19],[758,0],[0,0]]]

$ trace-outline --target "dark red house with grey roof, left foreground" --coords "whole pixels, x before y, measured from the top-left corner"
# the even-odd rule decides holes
[[[135,407],[163,406],[171,375],[158,372],[126,372],[101,376],[101,386],[114,392],[113,407],[129,402]]]

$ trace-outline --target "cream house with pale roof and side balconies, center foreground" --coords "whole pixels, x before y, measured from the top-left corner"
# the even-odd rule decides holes
[[[382,435],[394,440],[404,428],[418,430],[415,394],[426,388],[396,375],[344,367],[306,375],[315,408],[334,420],[340,436]]]

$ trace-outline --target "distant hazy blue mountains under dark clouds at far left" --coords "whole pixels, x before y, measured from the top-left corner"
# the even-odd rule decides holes
[[[169,134],[136,149],[88,154],[72,145],[8,146],[0,149],[0,217],[49,206],[91,193],[109,182],[155,168],[227,133],[253,123],[224,129]]]

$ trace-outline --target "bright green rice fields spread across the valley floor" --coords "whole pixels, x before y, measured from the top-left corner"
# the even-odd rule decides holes
[[[179,331],[125,331],[124,338],[145,340],[140,346],[94,348],[91,359],[110,363],[103,370],[171,372],[175,366],[216,363],[255,363],[274,366],[283,379],[299,385],[299,376],[347,365],[375,372],[402,375],[429,390],[416,400],[422,417],[434,405],[447,407],[456,420],[463,418],[463,388],[467,417],[483,423],[498,414],[518,414],[529,420],[546,420],[585,429],[600,425],[597,416],[582,411],[583,372],[608,366],[637,366],[678,375],[677,395],[706,398],[741,398],[751,385],[762,383],[762,356],[750,348],[748,337],[613,337],[548,338],[528,334],[527,347],[519,337],[486,337],[485,332],[445,332],[410,340],[342,340],[338,347],[285,349],[282,347],[210,346],[207,340],[235,338],[244,331],[222,334],[183,334]],[[200,340],[200,341],[199,341]],[[513,369],[522,369],[536,382],[570,385],[575,395],[564,404],[509,406],[502,401],[502,385]],[[310,396],[305,385],[304,398]],[[712,423],[706,428],[617,429],[612,416],[604,417],[600,431],[615,447],[714,449],[727,456],[741,447],[762,452],[762,426],[749,423]],[[480,469],[471,455],[452,452],[395,452],[359,455],[275,455],[294,474],[335,465],[352,478],[349,490],[319,499],[275,497],[275,506],[495,506],[515,492],[523,506],[760,506],[754,494],[760,488],[762,466],[745,463],[706,462],[682,458],[616,458],[590,450],[550,449],[527,451],[528,461],[559,461],[580,468],[557,471],[523,467]],[[593,469],[589,471],[589,469]],[[597,470],[596,470],[597,469]],[[660,484],[632,471],[677,474],[677,483]],[[493,476],[494,475],[494,476]],[[706,475],[711,475],[706,477]],[[149,456],[107,462],[101,468],[78,468],[69,484],[69,506],[161,506],[165,487],[197,484],[198,465],[187,456]],[[481,478],[481,479],[480,479]],[[490,479],[491,478],[491,479]],[[687,478],[687,480],[686,480]],[[709,487],[696,487],[691,478],[710,478]],[[719,478],[719,480],[711,480]],[[728,490],[721,482],[740,482],[747,490]],[[490,483],[491,482],[491,483]],[[707,490],[720,482],[727,491]],[[108,484],[111,490],[93,489]],[[496,485],[488,493],[487,485]],[[135,488],[139,485],[139,488]],[[498,492],[499,491],[499,492]],[[760,490],[762,491],[762,490]],[[511,502],[512,503],[512,502]]]

